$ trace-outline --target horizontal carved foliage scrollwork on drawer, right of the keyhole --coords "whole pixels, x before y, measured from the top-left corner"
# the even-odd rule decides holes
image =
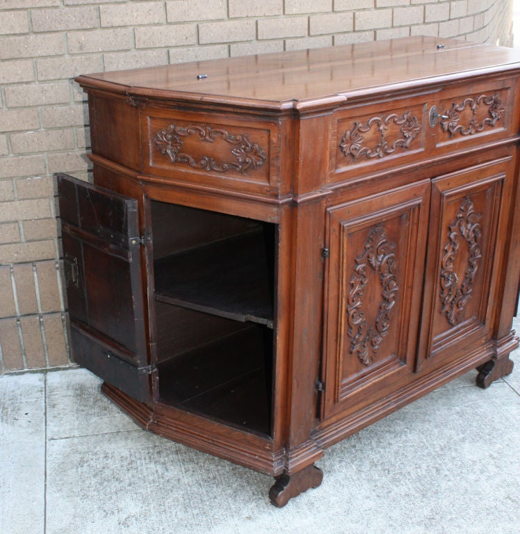
[[[488,106],[489,117],[478,120],[477,111],[479,106]],[[459,124],[461,115],[466,108],[471,111],[471,120],[467,127]],[[450,137],[455,136],[455,133],[460,133],[461,136],[469,136],[473,133],[478,133],[485,129],[485,127],[494,127],[494,125],[501,120],[505,113],[505,106],[502,104],[500,98],[495,93],[491,97],[480,95],[478,98],[466,98],[462,104],[453,103],[448,111],[444,112],[447,118],[441,120],[441,127],[443,131],[448,131]]]

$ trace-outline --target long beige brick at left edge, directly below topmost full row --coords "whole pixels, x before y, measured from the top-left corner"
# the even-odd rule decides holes
[[[58,56],[65,51],[61,33],[0,38],[0,59]]]

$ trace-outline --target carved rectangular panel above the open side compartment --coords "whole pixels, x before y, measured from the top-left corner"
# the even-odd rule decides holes
[[[278,126],[272,122],[157,110],[143,119],[144,172],[240,191],[277,188]]]

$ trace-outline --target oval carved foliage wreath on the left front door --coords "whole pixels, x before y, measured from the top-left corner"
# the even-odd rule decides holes
[[[350,278],[347,305],[350,353],[357,355],[359,361],[366,366],[373,362],[383,338],[388,334],[390,312],[399,291],[394,250],[396,245],[389,242],[384,229],[380,226],[373,228],[365,242],[364,252],[355,259],[356,268]],[[368,324],[363,302],[370,268],[379,276],[382,287],[382,300],[377,317],[371,325]],[[367,305],[373,303],[368,302]]]

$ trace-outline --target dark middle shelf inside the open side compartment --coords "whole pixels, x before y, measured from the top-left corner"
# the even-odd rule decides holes
[[[273,290],[261,232],[154,262],[156,300],[273,328]]]

